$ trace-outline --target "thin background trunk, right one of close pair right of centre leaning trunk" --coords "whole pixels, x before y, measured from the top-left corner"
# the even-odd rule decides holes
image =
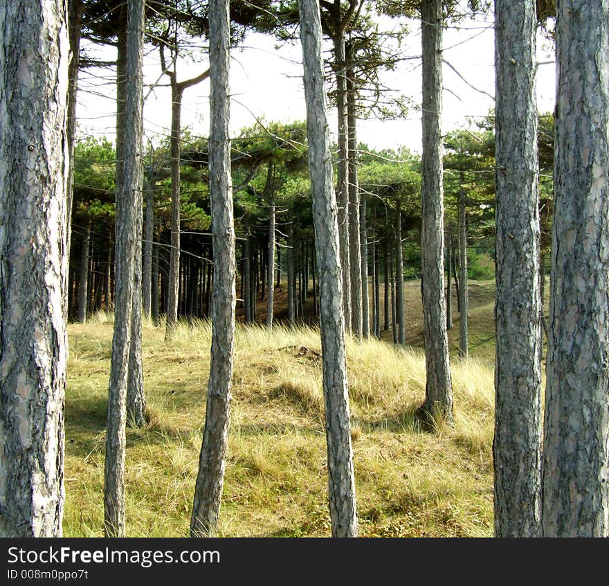
[[[356,87],[353,79],[354,56],[347,55],[347,142],[349,171],[349,268],[351,271],[351,330],[362,337],[362,273],[359,227],[359,181],[357,176]]]

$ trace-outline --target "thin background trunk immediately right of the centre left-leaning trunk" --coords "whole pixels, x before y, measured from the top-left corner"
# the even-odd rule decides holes
[[[338,0],[337,0],[338,1]],[[351,328],[351,267],[349,260],[349,143],[347,141],[347,71],[345,69],[345,31],[340,24],[340,1],[336,15],[334,57],[336,60],[336,110],[338,112],[338,161],[336,163],[338,193],[338,244],[343,269],[343,312],[345,324]]]

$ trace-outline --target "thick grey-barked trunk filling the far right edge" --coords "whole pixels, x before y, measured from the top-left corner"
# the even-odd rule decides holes
[[[609,4],[558,3],[544,537],[609,531]]]

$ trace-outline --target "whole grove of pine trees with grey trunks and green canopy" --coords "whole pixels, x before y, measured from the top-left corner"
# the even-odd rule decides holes
[[[446,132],[444,30],[493,8],[494,108]],[[417,109],[380,73],[403,60],[415,21],[421,154],[369,148],[359,120]],[[453,361],[466,364],[481,248],[496,267],[495,533],[608,536],[606,0],[17,0],[0,4],[0,30],[1,536],[62,535],[67,323],[104,310],[107,537],[128,533],[126,430],[147,425],[143,323],[170,339],[199,318],[212,340],[190,535],[217,534],[243,321],[319,328],[331,533],[356,537],[345,339],[405,345],[405,280],[420,278],[416,416],[426,433],[453,426],[447,332],[458,314]],[[302,45],[307,116],[230,136],[230,55],[251,31]],[[554,114],[536,103],[540,31],[556,46]],[[81,39],[115,47],[116,61],[90,57]],[[148,50],[172,96],[169,132],[154,140]],[[180,81],[183,53],[197,69]],[[78,134],[78,77],[96,66],[116,83],[114,144]],[[181,97],[208,79],[209,135],[197,136],[181,125]]]

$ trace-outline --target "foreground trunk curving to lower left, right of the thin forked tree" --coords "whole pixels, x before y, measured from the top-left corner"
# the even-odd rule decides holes
[[[210,0],[209,177],[214,277],[212,348],[203,443],[190,521],[192,537],[215,533],[228,445],[230,390],[235,345],[235,229],[230,184],[228,0]]]

